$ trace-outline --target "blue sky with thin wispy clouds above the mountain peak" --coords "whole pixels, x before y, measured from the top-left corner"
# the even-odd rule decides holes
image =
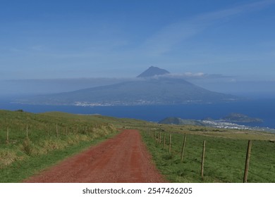
[[[0,80],[135,77],[154,65],[274,82],[274,35],[274,0],[0,0]]]

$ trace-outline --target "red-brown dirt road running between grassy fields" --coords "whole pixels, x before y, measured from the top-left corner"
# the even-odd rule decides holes
[[[124,130],[113,139],[63,160],[25,182],[166,182],[152,164],[137,130]]]

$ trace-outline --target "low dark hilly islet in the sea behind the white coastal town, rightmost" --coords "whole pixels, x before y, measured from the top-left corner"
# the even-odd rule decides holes
[[[226,117],[223,117],[221,120],[226,121],[226,122],[243,122],[243,123],[261,123],[261,122],[263,122],[263,120],[260,118],[249,117],[249,116],[241,114],[241,113],[230,113]]]

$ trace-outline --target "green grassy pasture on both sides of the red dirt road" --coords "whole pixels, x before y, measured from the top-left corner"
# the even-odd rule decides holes
[[[44,168],[114,136],[123,128],[140,130],[154,163],[169,182],[243,182],[249,139],[252,140],[252,151],[247,182],[275,182],[275,143],[272,142],[275,134],[159,125],[102,115],[8,110],[0,110],[0,182],[22,182]],[[172,134],[171,153],[169,133]],[[181,161],[184,135],[185,151]],[[202,179],[203,141],[206,141],[206,149]]]

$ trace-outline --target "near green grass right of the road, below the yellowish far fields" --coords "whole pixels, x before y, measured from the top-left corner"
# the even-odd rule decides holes
[[[247,140],[223,136],[208,136],[203,132],[173,133],[171,153],[169,153],[169,131],[166,131],[166,146],[154,138],[152,129],[143,130],[142,137],[147,148],[152,153],[154,163],[169,182],[243,182]],[[170,131],[171,132],[171,131]],[[181,149],[183,136],[187,134],[183,161]],[[236,134],[238,136],[238,134]],[[204,177],[201,177],[202,145],[206,141],[204,157]],[[275,144],[264,140],[252,141],[250,168],[247,182],[275,182]]]

